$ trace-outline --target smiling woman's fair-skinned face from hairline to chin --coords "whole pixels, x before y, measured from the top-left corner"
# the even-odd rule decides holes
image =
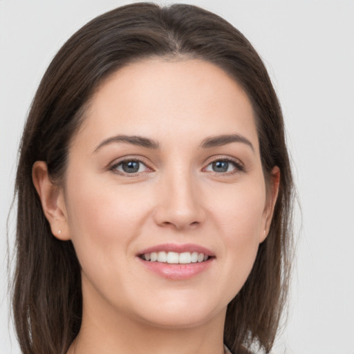
[[[73,138],[58,205],[86,311],[166,327],[223,317],[272,212],[247,95],[201,60],[122,68]]]

